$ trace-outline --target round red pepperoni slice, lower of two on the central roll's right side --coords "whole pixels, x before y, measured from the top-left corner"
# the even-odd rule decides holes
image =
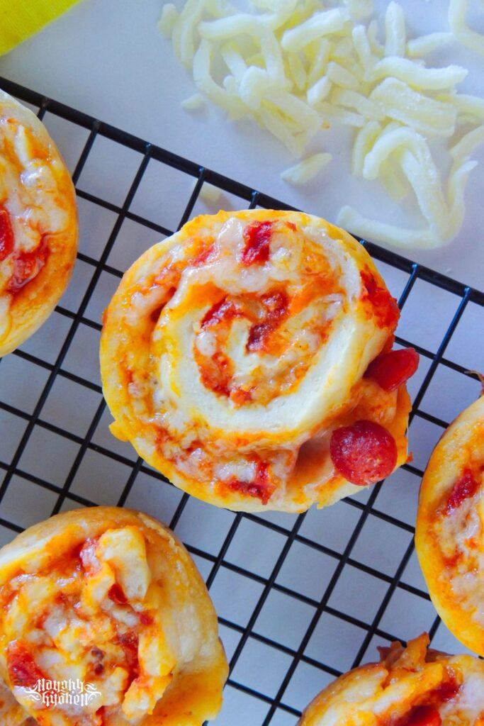
[[[366,486],[393,472],[397,445],[391,433],[379,423],[361,420],[333,431],[329,454],[335,469],[345,479]]]

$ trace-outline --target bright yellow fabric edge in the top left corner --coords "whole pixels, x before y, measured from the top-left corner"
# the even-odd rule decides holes
[[[0,0],[0,55],[30,38],[78,0]]]

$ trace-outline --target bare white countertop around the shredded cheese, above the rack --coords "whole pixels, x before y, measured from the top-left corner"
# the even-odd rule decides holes
[[[447,30],[447,4],[406,0],[409,36]],[[350,176],[348,148],[353,131],[348,127],[321,132],[319,144],[311,150],[322,146],[334,159],[309,187],[295,189],[279,178],[294,160],[255,123],[226,123],[221,110],[210,105],[197,113],[182,110],[181,100],[195,89],[173,57],[170,41],[157,31],[162,5],[162,0],[84,0],[0,59],[0,75],[330,221],[341,205],[349,203],[369,216],[381,216],[383,210],[385,221],[418,226],[418,216],[411,212],[413,203],[398,210],[378,182]],[[386,2],[380,0],[380,5],[385,7]],[[472,18],[476,28],[480,20],[483,14]],[[482,57],[453,46],[435,54],[433,60],[435,65],[462,63],[470,73],[459,89],[484,94]],[[475,158],[484,161],[483,147]],[[483,195],[481,163],[469,179],[467,215],[459,237],[440,250],[397,251],[482,289]]]

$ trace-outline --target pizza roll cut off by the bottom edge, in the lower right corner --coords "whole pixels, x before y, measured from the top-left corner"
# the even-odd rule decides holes
[[[298,726],[482,726],[483,661],[427,650],[428,643],[424,633],[406,648],[380,648],[380,663],[337,678]]]

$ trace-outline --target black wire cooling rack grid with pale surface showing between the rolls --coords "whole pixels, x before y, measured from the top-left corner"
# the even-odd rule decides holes
[[[398,295],[397,344],[413,345],[422,359],[411,383],[414,461],[385,486],[327,510],[250,515],[204,505],[107,432],[102,308],[144,248],[204,211],[206,182],[227,207],[290,207],[5,78],[0,87],[33,107],[60,144],[86,230],[70,292],[1,361],[1,543],[34,521],[95,504],[148,510],[169,523],[219,613],[230,676],[217,726],[295,725],[334,677],[374,658],[378,645],[424,629],[435,647],[462,650],[430,603],[413,523],[428,454],[478,393],[469,370],[484,370],[475,335],[484,293],[361,240]]]

